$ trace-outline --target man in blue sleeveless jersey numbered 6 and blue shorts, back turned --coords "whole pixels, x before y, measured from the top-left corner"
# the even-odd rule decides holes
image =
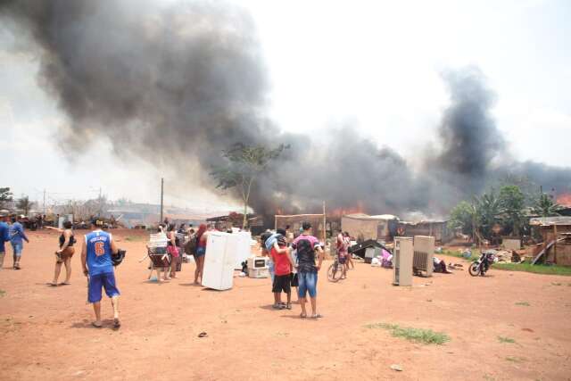
[[[87,277],[87,301],[93,303],[95,321],[91,323],[96,328],[103,327],[101,322],[101,289],[111,298],[113,306],[113,327],[120,327],[119,321],[119,290],[115,286],[112,253],[118,249],[110,233],[104,232],[103,221],[93,220],[94,230],[85,236],[81,247],[81,265]]]

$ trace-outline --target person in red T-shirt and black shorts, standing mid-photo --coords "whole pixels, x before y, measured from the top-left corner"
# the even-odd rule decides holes
[[[287,304],[285,308],[292,309],[292,269],[294,267],[294,259],[285,243],[285,236],[277,236],[277,241],[270,251],[271,259],[274,261],[274,283],[272,293],[274,293],[274,309],[281,310],[284,308],[281,296],[282,291],[287,295]]]

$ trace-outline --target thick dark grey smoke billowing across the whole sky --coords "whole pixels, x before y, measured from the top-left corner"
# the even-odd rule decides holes
[[[200,173],[188,177],[209,187],[208,173],[228,146],[291,145],[253,190],[251,206],[264,215],[316,212],[323,201],[443,215],[507,176],[571,188],[570,170],[502,154],[490,114],[495,95],[475,68],[443,74],[451,105],[439,146],[416,172],[352,125],[329,128],[319,143],[281,132],[266,115],[269,85],[252,18],[234,5],[21,0],[0,3],[0,17],[41,49],[38,82],[69,117],[62,144],[75,152],[109,138],[116,153],[150,164],[197,162]]]

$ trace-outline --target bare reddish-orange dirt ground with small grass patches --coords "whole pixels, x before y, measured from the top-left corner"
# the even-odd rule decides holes
[[[128,250],[116,273],[119,331],[107,300],[105,327],[90,326],[79,253],[72,284],[46,286],[56,234],[29,232],[20,271],[10,268],[9,249],[0,272],[0,379],[571,379],[569,277],[492,268],[487,277],[464,270],[396,287],[391,270],[358,263],[337,284],[322,269],[325,317],[299,319],[297,304],[271,310],[269,279],[235,277],[233,289],[211,291],[191,285],[194,265],[185,264],[177,280],[148,282],[147,263],[138,262],[146,236],[113,234]],[[432,328],[451,342],[414,344],[365,327],[377,322]],[[208,337],[197,337],[203,331]]]

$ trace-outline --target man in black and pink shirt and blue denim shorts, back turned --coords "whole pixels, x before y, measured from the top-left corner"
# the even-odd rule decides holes
[[[311,319],[323,318],[323,315],[317,311],[317,285],[318,272],[323,262],[323,248],[319,244],[319,240],[311,235],[311,224],[303,222],[302,234],[294,239],[292,247],[297,250],[297,277],[298,277],[298,296],[302,313],[300,318],[307,318],[305,303],[306,296],[310,294],[311,302]],[[318,264],[315,264],[315,253],[318,252]]]

